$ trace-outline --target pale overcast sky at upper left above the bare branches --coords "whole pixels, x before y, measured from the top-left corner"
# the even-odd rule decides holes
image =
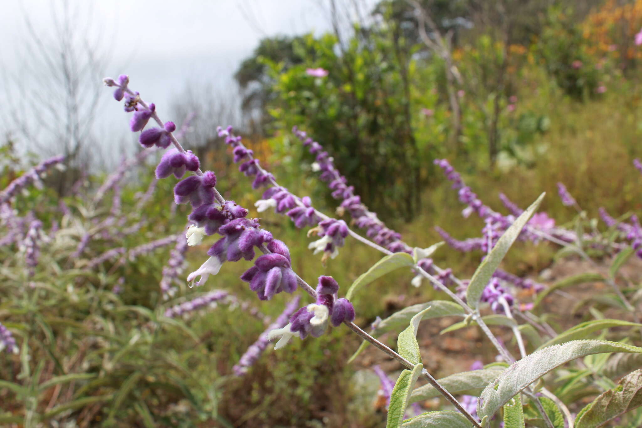
[[[372,0],[363,0],[366,5]],[[52,13],[64,0],[4,2],[0,26],[0,61],[4,75],[21,78],[23,40],[28,37],[25,17],[44,38],[55,37]],[[78,25],[88,40],[102,37],[110,53],[107,74],[130,75],[131,86],[144,99],[167,111],[172,99],[187,83],[212,85],[236,94],[232,74],[241,60],[250,56],[259,39],[273,35],[296,35],[330,29],[328,3],[322,0],[67,0],[80,10]],[[338,1],[342,3],[342,1]],[[83,15],[92,4],[91,21]],[[85,30],[83,30],[85,31]],[[99,80],[104,76],[96,76]],[[7,81],[4,80],[5,84]],[[26,85],[30,83],[26,81]],[[103,123],[122,119],[122,107],[108,103],[110,91],[101,99]],[[6,104],[5,104],[6,106]],[[1,107],[0,107],[1,108]],[[5,107],[6,108],[6,107]],[[160,111],[159,110],[159,111]],[[2,110],[0,110],[2,112]],[[4,113],[4,112],[3,112]],[[116,116],[120,114],[120,116]],[[167,117],[162,114],[161,117]],[[3,117],[6,118],[6,116]],[[2,129],[10,129],[3,123]]]

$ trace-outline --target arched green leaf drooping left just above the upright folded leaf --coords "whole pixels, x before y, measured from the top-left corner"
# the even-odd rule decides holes
[[[376,327],[370,334],[372,336],[381,336],[384,333],[387,333],[392,330],[399,329],[408,325],[410,318],[415,316],[421,311],[430,308],[430,311],[424,312],[423,320],[429,320],[431,318],[439,318],[440,316],[465,316],[464,308],[455,302],[448,302],[447,300],[433,300],[432,302],[420,303],[412,306],[405,307],[401,311],[395,312],[394,314],[388,316],[385,320],[379,321]],[[352,357],[348,360],[348,363],[354,361],[354,359],[363,352],[365,348],[370,345],[369,341],[363,341],[361,346],[352,354]]]

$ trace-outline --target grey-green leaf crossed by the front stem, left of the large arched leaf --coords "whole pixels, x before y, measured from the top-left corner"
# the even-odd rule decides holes
[[[478,396],[482,393],[485,386],[497,379],[505,368],[505,366],[498,365],[482,368],[480,370],[471,370],[470,372],[455,373],[453,375],[442,377],[438,382],[441,386],[446,388],[446,391],[453,395],[466,394]],[[431,384],[425,384],[412,391],[408,404],[429,400],[430,398],[439,396],[440,393],[434,386]]]

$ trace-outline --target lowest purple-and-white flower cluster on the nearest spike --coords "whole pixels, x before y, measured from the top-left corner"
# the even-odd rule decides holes
[[[354,320],[354,307],[345,298],[337,298],[339,284],[333,277],[319,277],[317,284],[317,302],[309,304],[295,312],[290,323],[282,329],[272,330],[268,339],[280,338],[274,346],[279,349],[286,345],[290,338],[299,334],[301,339],[308,337],[308,334],[318,338],[324,334],[328,323],[338,327],[343,322]]]

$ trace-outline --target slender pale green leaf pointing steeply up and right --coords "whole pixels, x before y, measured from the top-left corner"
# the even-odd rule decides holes
[[[473,309],[478,309],[483,289],[488,285],[492,274],[499,267],[499,263],[504,259],[508,249],[515,242],[530,216],[532,216],[535,210],[537,210],[537,207],[539,207],[539,204],[544,198],[544,194],[546,193],[542,193],[539,198],[510,225],[506,232],[501,235],[490,254],[487,255],[486,259],[484,259],[475,271],[473,278],[471,278],[471,283],[466,290],[466,302],[471,305]]]

